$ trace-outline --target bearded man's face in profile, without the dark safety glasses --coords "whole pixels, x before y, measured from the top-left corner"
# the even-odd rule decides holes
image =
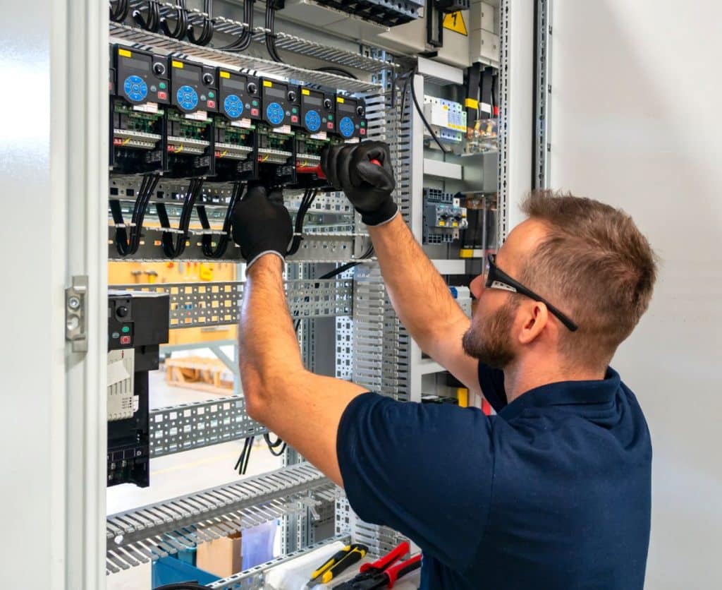
[[[499,268],[514,278],[521,275],[523,263],[544,234],[544,226],[538,221],[524,221],[516,226],[499,249],[496,260]],[[484,281],[486,275],[471,281],[471,292],[478,303],[462,344],[469,356],[495,369],[504,369],[518,356],[513,333],[521,301],[508,291],[484,288]]]

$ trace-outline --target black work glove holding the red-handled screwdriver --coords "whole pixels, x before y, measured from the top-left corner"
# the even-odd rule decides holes
[[[346,193],[367,226],[380,226],[396,216],[399,208],[391,198],[396,181],[386,143],[367,141],[325,147],[321,170],[336,190]]]

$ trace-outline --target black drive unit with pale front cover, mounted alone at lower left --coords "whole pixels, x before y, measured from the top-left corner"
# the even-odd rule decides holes
[[[108,486],[149,485],[148,372],[169,315],[168,294],[108,292]]]

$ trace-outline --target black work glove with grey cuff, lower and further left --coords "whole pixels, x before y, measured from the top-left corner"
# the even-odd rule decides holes
[[[231,234],[240,246],[248,268],[258,257],[273,252],[285,260],[293,237],[291,215],[283,206],[281,189],[266,193],[266,187],[248,187],[233,210]]]

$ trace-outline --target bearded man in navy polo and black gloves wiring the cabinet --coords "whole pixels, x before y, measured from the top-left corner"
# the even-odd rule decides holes
[[[249,262],[249,414],[342,485],[362,519],[419,544],[423,589],[642,589],[651,443],[609,362],[651,298],[648,241],[600,202],[533,194],[471,283],[470,321],[398,214],[386,145],[332,147],[321,166],[367,224],[401,321],[497,415],[306,371],[282,283],[290,217],[259,188],[234,228]]]

